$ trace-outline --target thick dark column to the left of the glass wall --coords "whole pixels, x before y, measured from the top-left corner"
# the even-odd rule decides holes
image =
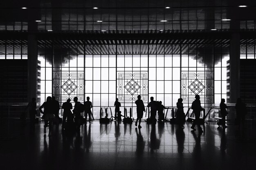
[[[36,98],[36,80],[37,80],[37,40],[35,35],[28,35],[27,59],[28,59],[28,100]]]

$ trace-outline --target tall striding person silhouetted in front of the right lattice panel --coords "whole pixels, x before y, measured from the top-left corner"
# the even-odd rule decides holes
[[[195,100],[192,102],[191,108],[193,109],[194,114],[195,114],[195,120],[193,121],[191,129],[195,130],[195,124],[197,124],[199,132],[202,133],[204,131],[202,130],[202,128],[200,126],[200,114],[201,114],[201,111],[204,110],[204,109],[201,106],[199,95],[195,95]]]

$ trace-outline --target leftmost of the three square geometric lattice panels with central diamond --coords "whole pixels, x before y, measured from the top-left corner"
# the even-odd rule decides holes
[[[78,97],[83,102],[84,95],[84,73],[83,71],[54,71],[53,95],[61,103]]]

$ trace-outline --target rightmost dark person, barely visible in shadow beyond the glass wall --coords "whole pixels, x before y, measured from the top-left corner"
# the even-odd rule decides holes
[[[247,114],[247,110],[246,110],[246,104],[242,102],[241,98],[238,98],[236,101],[236,119],[237,119],[237,123],[241,124],[242,121],[242,126],[244,128],[245,125],[245,115]]]

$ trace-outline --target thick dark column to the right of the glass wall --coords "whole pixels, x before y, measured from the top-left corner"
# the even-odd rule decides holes
[[[240,35],[233,33],[230,41],[230,103],[236,103],[240,97]]]

